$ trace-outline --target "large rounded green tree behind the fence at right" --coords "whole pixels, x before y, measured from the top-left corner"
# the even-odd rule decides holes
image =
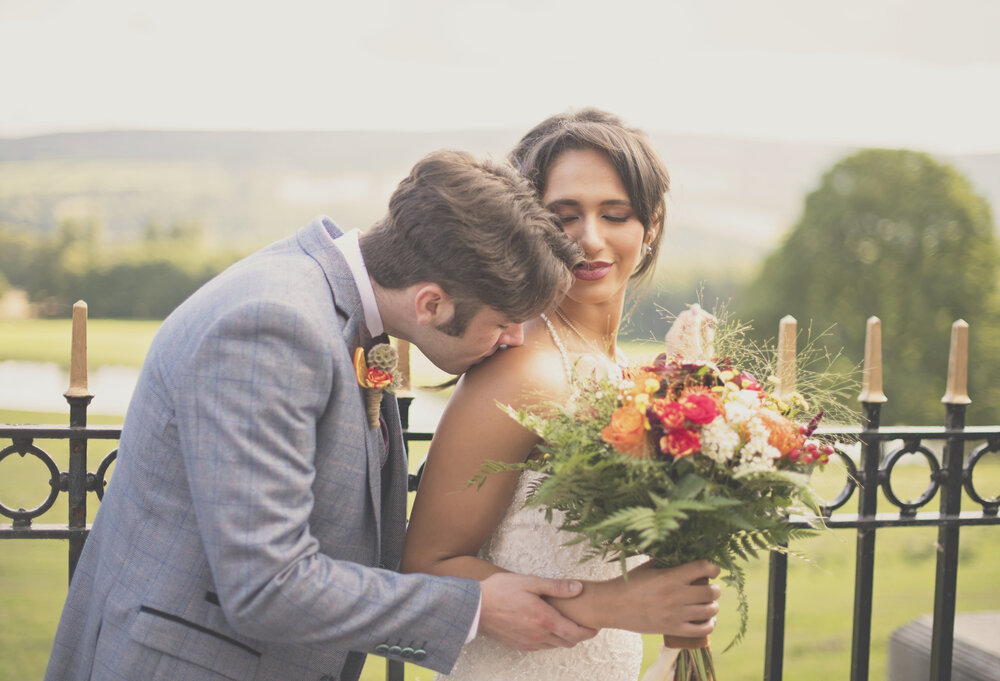
[[[860,361],[865,320],[882,320],[886,422],[941,420],[950,327],[973,339],[977,413],[997,418],[998,247],[990,208],[969,181],[927,154],[869,149],[837,163],[805,200],[798,224],[750,285],[740,316],[777,328],[791,314],[835,325],[828,346]],[[984,405],[982,398],[992,404]],[[972,416],[970,411],[970,416]]]

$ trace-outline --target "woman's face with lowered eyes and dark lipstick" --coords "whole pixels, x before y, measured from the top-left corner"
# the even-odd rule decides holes
[[[542,204],[559,216],[587,256],[587,264],[573,270],[568,297],[581,303],[624,301],[648,239],[607,156],[593,149],[561,154],[549,168]]]

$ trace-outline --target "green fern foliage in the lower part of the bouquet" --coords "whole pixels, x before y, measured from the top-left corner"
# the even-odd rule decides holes
[[[478,481],[500,470],[545,473],[528,503],[544,508],[550,521],[558,511],[560,527],[577,535],[569,543],[585,542],[592,558],[618,560],[623,568],[625,558],[638,555],[662,567],[716,563],[737,592],[743,624],[736,643],[748,621],[741,563],[802,536],[785,520],[794,507],[815,509],[808,476],[780,468],[734,473],[731,464],[701,454],[619,454],[601,431],[621,405],[617,385],[600,380],[582,383],[568,405],[506,408],[542,439],[542,456],[488,465]]]

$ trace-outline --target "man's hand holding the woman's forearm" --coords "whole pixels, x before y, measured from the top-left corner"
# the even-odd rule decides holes
[[[597,634],[559,614],[542,599],[574,598],[583,591],[578,581],[498,572],[479,584],[483,598],[479,633],[506,646],[520,650],[570,648]]]

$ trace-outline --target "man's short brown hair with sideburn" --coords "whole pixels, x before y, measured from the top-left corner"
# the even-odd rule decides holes
[[[455,303],[441,330],[459,336],[487,306],[512,322],[548,309],[583,260],[531,185],[512,169],[458,151],[419,161],[361,237],[379,286],[438,284]]]

